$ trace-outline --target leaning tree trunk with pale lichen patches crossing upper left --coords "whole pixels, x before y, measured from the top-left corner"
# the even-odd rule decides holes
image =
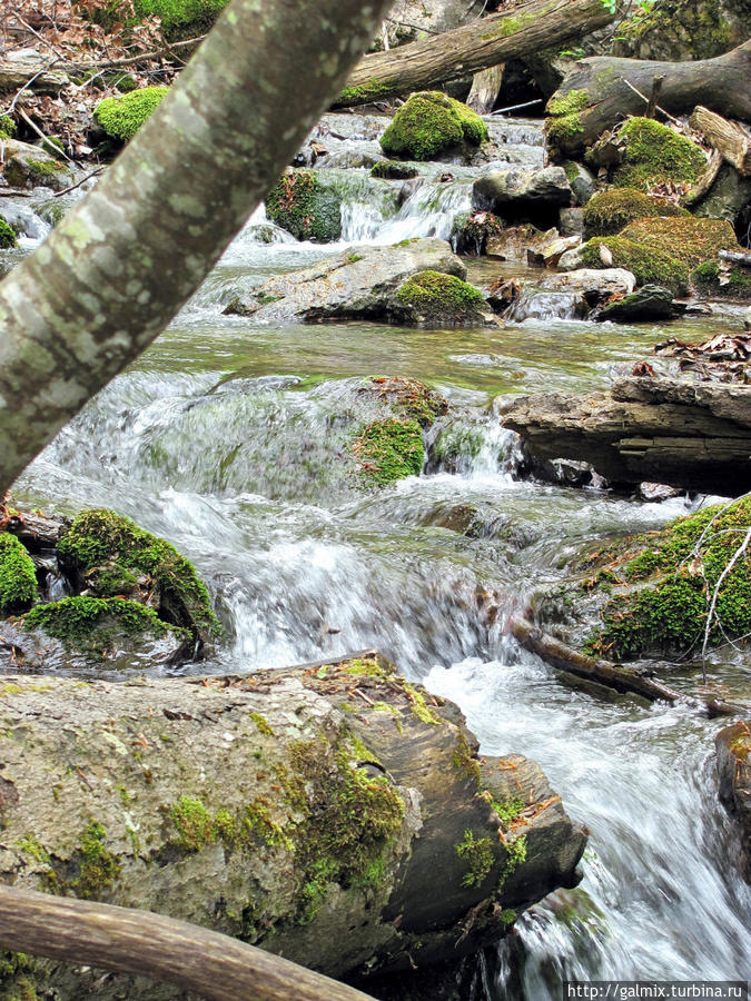
[[[0,285],[0,492],[200,285],[387,7],[233,0],[93,191]]]

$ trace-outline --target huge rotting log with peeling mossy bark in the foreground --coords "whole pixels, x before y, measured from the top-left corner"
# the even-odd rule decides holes
[[[500,938],[511,910],[575,885],[586,840],[533,763],[502,819],[503,761],[481,769],[460,710],[373,651],[245,677],[7,675],[0,742],[0,882],[158,911],[334,977]],[[58,960],[24,975],[69,1001],[95,984],[101,1001],[179,997]]]

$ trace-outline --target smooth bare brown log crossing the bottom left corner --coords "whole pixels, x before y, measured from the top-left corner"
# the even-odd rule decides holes
[[[373,1001],[329,977],[185,921],[6,885],[0,885],[0,948],[148,977],[213,1001]]]

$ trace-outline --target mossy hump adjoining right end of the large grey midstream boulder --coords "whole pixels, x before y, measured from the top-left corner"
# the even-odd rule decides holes
[[[395,311],[405,321],[439,326],[483,324],[487,313],[485,299],[473,285],[443,275],[421,271],[404,281],[394,297]]]

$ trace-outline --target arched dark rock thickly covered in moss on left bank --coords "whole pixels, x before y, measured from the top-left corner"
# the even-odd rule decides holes
[[[137,591],[145,578],[164,622],[206,641],[219,632],[206,586],[175,546],[111,511],[82,512],[58,542],[60,563],[78,591],[109,598]]]

